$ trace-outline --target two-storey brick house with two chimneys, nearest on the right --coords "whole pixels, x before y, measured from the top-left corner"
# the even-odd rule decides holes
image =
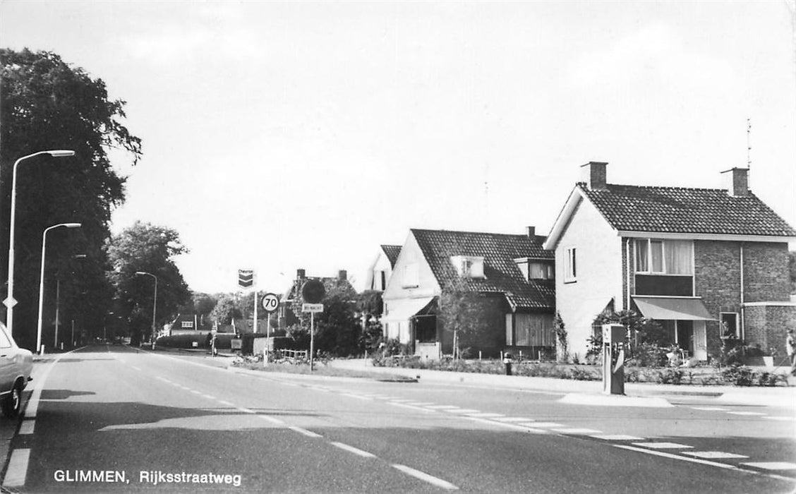
[[[570,352],[583,356],[595,316],[634,309],[696,360],[727,336],[784,352],[790,301],[788,242],[796,231],[748,189],[607,183],[607,163],[583,165],[544,248],[556,253],[556,309]]]

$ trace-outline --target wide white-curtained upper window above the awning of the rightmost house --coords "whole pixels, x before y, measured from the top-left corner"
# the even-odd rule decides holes
[[[636,272],[693,274],[693,242],[690,240],[637,239]]]

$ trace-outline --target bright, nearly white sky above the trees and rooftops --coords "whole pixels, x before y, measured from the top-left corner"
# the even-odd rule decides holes
[[[192,290],[361,290],[410,228],[546,235],[588,161],[700,188],[749,165],[796,226],[794,5],[0,0],[0,46],[127,102],[112,231],[174,228]]]

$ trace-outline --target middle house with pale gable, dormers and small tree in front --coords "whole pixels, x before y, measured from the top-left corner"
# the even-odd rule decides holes
[[[555,347],[553,253],[544,237],[412,229],[384,290],[384,336],[423,358],[453,352],[439,315],[443,289],[461,281],[477,298],[478,329],[462,340],[475,354],[536,355]]]

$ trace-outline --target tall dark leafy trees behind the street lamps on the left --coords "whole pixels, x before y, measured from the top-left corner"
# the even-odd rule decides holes
[[[32,348],[38,305],[41,234],[63,222],[80,230],[48,235],[45,332],[52,330],[55,278],[62,321],[76,319],[96,331],[111,303],[103,243],[112,209],[124,199],[124,178],[111,167],[108,150],[127,150],[135,163],[141,141],[121,123],[125,102],[108,99],[105,84],[49,52],[0,49],[0,251],[9,240],[14,161],[42,150],[73,150],[72,158],[29,158],[18,167],[14,241],[14,336]],[[80,262],[73,256],[84,254]],[[6,263],[0,276],[7,278]],[[2,290],[6,297],[7,287]],[[0,307],[5,310],[5,307]],[[101,331],[101,329],[100,329]]]

